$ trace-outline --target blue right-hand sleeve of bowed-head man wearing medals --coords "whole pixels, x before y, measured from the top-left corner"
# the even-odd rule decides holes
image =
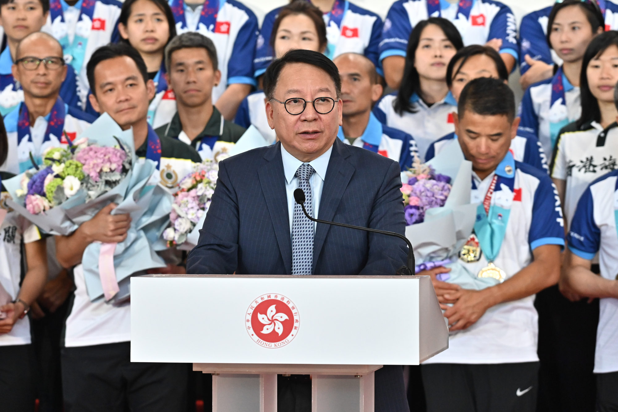
[[[528,233],[530,249],[545,244],[564,246],[564,220],[556,186],[549,176],[539,176],[532,205],[532,220]]]

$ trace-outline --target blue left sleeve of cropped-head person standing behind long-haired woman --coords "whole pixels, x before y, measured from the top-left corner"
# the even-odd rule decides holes
[[[379,43],[380,61],[389,56],[405,57],[410,33],[412,25],[408,19],[408,12],[401,2],[394,2],[384,20],[382,40]]]

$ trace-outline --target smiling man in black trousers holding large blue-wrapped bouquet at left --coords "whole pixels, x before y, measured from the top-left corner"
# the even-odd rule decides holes
[[[188,145],[159,138],[148,125],[148,101],[155,93],[140,54],[125,44],[97,49],[88,62],[93,85],[90,101],[106,112],[123,130],[133,128],[138,157],[155,161],[161,182],[165,175],[182,177],[200,157]],[[155,173],[155,180],[159,179]],[[128,401],[133,411],[180,411],[187,390],[184,364],[130,362],[130,303],[91,301],[85,286],[82,255],[95,241],[121,242],[131,225],[129,215],[112,215],[108,204],[69,236],[56,236],[58,261],[74,267],[75,291],[66,319],[62,349],[62,384],[65,410],[124,411]],[[154,253],[154,252],[153,252]],[[169,265],[161,272],[183,272]]]

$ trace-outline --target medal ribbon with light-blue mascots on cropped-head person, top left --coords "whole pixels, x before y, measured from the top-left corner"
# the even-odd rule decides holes
[[[59,39],[65,56],[69,55],[72,57],[69,64],[73,66],[75,72],[77,73],[82,70],[86,47],[88,46],[88,38],[92,30],[92,18],[95,14],[95,5],[95,0],[82,0],[82,8],[80,9],[79,17],[77,18],[77,27],[75,28],[75,36],[73,41],[69,41],[69,30],[67,30],[66,35]],[[51,0],[49,2],[49,13],[51,14],[50,17],[52,23],[59,17],[61,19],[60,21],[66,25],[60,0]],[[88,33],[85,33],[83,29],[80,30],[80,24],[88,21],[90,21],[90,27],[87,29]],[[81,36],[80,33],[85,34],[85,36]]]

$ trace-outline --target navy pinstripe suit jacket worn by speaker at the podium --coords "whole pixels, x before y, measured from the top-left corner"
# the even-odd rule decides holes
[[[319,218],[405,233],[399,165],[335,139]],[[219,163],[213,200],[187,273],[289,275],[292,240],[281,143]],[[318,223],[315,275],[394,275],[407,246],[392,236]]]

